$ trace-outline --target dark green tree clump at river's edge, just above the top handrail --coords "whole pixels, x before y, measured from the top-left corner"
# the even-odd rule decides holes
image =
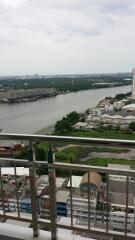
[[[72,126],[79,121],[79,113],[76,111],[67,114],[62,120],[57,121],[55,125],[55,132],[66,133],[72,129]]]

